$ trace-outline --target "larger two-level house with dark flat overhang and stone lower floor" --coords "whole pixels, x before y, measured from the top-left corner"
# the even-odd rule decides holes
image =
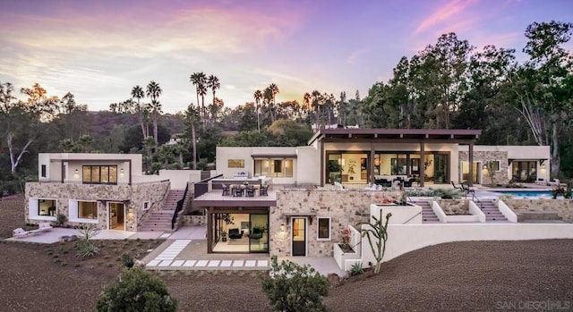
[[[496,183],[548,179],[548,147],[475,145],[479,130],[322,129],[304,147],[217,148],[217,173],[195,192],[203,208],[208,252],[264,252],[278,256],[330,256],[346,224],[369,221],[373,196],[385,186],[451,188],[451,182]],[[472,164],[472,165],[470,165]],[[525,173],[524,173],[525,170]],[[495,174],[499,172],[500,174]],[[507,174],[506,174],[507,173]],[[268,196],[233,196],[225,187],[271,181]],[[469,179],[469,177],[472,177]],[[410,184],[414,183],[414,184]],[[337,184],[343,190],[329,188]],[[355,190],[352,190],[355,189]],[[385,192],[400,199],[403,192]],[[251,233],[263,232],[252,239]],[[233,230],[240,236],[227,240]]]

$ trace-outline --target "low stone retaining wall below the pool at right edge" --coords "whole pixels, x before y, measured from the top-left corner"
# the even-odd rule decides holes
[[[573,223],[573,199],[503,199],[516,213],[519,211],[556,212],[563,221]]]

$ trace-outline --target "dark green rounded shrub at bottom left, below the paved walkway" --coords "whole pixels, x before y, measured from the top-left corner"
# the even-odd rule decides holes
[[[98,311],[175,311],[165,282],[141,268],[124,269],[119,280],[99,295]]]

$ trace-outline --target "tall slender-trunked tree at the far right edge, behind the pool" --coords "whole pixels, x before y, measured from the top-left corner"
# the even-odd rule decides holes
[[[527,26],[523,51],[530,60],[517,69],[512,83],[525,118],[538,145],[552,149],[551,172],[559,173],[559,136],[569,120],[573,95],[573,59],[563,47],[573,34],[570,22],[534,22]]]

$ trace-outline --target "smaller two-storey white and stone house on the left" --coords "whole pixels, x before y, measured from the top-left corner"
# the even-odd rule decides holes
[[[139,154],[38,155],[38,182],[26,183],[26,223],[56,221],[136,232],[161,207],[170,181],[143,175]]]

